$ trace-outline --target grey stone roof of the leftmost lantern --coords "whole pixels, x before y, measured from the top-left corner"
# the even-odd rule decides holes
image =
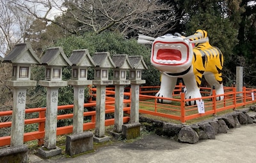
[[[17,64],[41,64],[29,43],[19,43],[4,57],[3,62]]]

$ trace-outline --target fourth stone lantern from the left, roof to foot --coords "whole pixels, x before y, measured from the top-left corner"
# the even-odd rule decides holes
[[[94,140],[97,142],[108,141],[105,134],[105,104],[106,85],[112,85],[113,81],[108,79],[108,70],[116,67],[109,52],[97,52],[92,57],[95,62],[93,85],[97,86],[96,92],[96,125]]]

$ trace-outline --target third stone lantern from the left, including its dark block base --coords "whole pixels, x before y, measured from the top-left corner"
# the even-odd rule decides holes
[[[72,80],[68,85],[74,87],[73,134],[66,139],[66,153],[70,156],[93,149],[93,132],[83,130],[84,124],[84,87],[92,85],[87,80],[88,67],[95,67],[95,63],[87,49],[73,50],[69,57],[72,63]]]

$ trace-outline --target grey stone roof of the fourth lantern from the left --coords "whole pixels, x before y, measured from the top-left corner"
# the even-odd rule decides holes
[[[100,68],[115,68],[115,63],[110,57],[109,52],[96,52],[93,57],[96,67]]]

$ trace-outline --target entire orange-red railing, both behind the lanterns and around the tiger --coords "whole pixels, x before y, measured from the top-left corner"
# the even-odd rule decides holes
[[[216,96],[213,91],[213,95],[209,96],[209,88],[201,88],[201,93],[205,94],[204,97],[200,98],[205,104],[205,113],[198,113],[196,105],[186,106],[186,102],[194,101],[199,99],[185,99],[184,93],[180,93],[182,84],[177,85],[173,91],[173,98],[155,97],[152,96],[159,90],[159,86],[144,86],[140,87],[140,113],[155,115],[159,117],[171,118],[173,120],[179,120],[184,123],[187,120],[191,120],[198,117],[204,117],[205,115],[216,115],[218,112],[223,110],[235,109],[240,106],[245,106],[247,104],[255,103],[255,89],[247,89],[243,87],[243,91],[236,92],[235,87],[225,87],[225,94],[219,95],[224,96],[222,101],[216,101]],[[92,89],[92,96],[95,96],[96,89]],[[107,88],[106,90],[106,113],[114,113],[115,111],[115,88]],[[150,94],[148,96],[147,94]],[[131,96],[129,87],[125,88],[124,96],[128,99],[124,99],[124,106],[129,106]],[[173,104],[160,104],[157,103],[157,99],[167,99],[172,100]],[[95,101],[90,101],[90,103],[84,104],[85,108],[95,107]],[[73,105],[58,106],[58,110],[72,109]],[[147,110],[145,110],[147,108]],[[44,127],[45,127],[45,110],[46,108],[31,108],[26,109],[26,114],[28,113],[38,113],[38,117],[30,118],[25,120],[25,124],[38,124],[38,130],[33,132],[24,133],[24,142],[31,140],[38,140],[38,145],[44,144]],[[129,113],[130,107],[124,107],[124,111]],[[1,111],[0,117],[10,116],[12,111]],[[84,131],[95,129],[95,111],[84,112],[84,117],[91,117],[90,122],[85,122],[83,125]],[[58,120],[73,118],[73,114],[58,115]],[[111,118],[106,120],[105,125],[113,125],[115,119]],[[124,123],[129,122],[129,117],[124,117]],[[0,122],[0,129],[5,127],[11,127],[12,122]],[[70,134],[72,133],[72,125],[57,127],[57,135]],[[10,136],[0,137],[0,146],[10,145]]]

